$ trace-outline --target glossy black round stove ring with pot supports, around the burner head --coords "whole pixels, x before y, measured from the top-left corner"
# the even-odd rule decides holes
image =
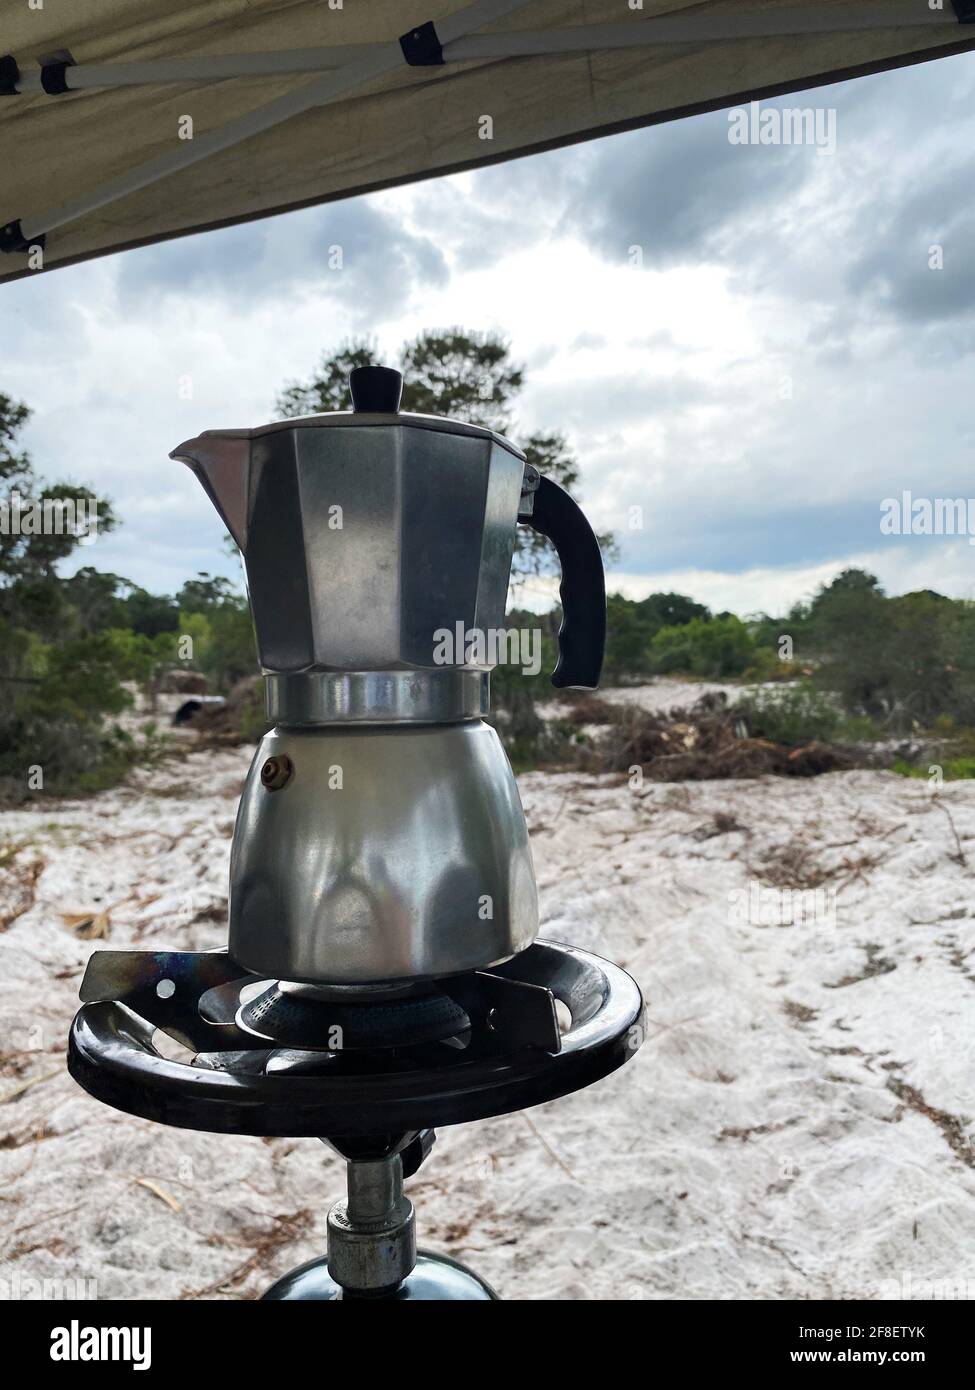
[[[82,987],[90,1002],[71,1026],[68,1070],[97,1099],[164,1125],[356,1137],[538,1105],[608,1076],[643,1042],[643,997],[630,976],[552,941],[535,941],[497,970],[438,981],[467,1013],[470,1030],[410,1047],[260,1045],[235,1023],[200,1013],[200,998],[234,980],[255,977],[223,952],[96,954]],[[561,1041],[542,1026],[547,1009],[554,1017],[552,999],[572,1015]],[[184,1040],[195,1065],[161,1056],[153,1047],[157,1027]],[[538,1045],[541,1037],[551,1045]]]

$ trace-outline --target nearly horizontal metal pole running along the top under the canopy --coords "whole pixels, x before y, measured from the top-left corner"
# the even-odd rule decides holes
[[[527,3],[527,0],[519,0]],[[508,6],[512,8],[512,6]],[[962,7],[958,7],[961,11]],[[634,11],[636,13],[636,11]],[[485,21],[484,21],[485,22]],[[844,4],[823,8],[747,11],[719,15],[714,11],[663,18],[633,19],[627,24],[573,25],[559,31],[512,33],[467,33],[448,38],[449,17],[437,22],[444,58],[448,63],[473,60],[558,56],[599,50],[654,47],[682,43],[727,43],[748,39],[793,38],[821,33],[858,33],[892,28],[947,28],[960,22],[951,0],[943,10],[930,10],[926,0],[889,0],[883,7]],[[241,53],[191,58],[160,58],[124,64],[68,64],[63,71],[63,92],[103,88],[146,86],[182,82],[223,82],[229,78],[288,76],[344,70],[378,57],[396,44],[356,43],[346,47],[292,49],[280,53]],[[45,92],[43,70],[21,72],[18,92]],[[60,92],[58,92],[60,95]]]

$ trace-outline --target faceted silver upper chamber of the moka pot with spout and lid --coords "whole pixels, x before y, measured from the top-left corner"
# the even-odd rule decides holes
[[[442,671],[438,630],[503,626],[523,455],[398,411],[373,367],[356,410],[207,431],[174,450],[243,555],[266,673]],[[485,667],[487,669],[487,667]]]

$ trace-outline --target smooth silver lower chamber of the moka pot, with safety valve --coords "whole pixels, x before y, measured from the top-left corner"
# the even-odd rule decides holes
[[[524,812],[490,724],[264,735],[231,859],[245,969],[355,988],[438,979],[517,955],[537,930]]]

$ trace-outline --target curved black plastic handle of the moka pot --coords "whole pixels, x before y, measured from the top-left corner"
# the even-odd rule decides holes
[[[565,488],[544,474],[538,478],[531,516],[520,520],[552,542],[562,566],[562,627],[552,685],[594,691],[606,645],[606,578],[595,532]]]

